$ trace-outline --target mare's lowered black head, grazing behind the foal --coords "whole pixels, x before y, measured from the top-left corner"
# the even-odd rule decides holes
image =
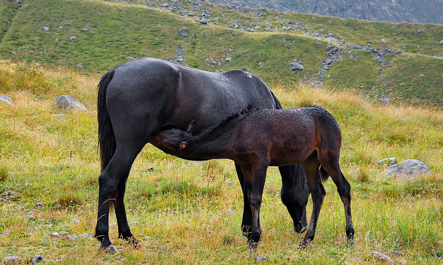
[[[295,233],[306,230],[306,205],[308,204],[309,190],[306,174],[300,164],[279,167],[282,175],[282,203],[286,206],[294,223]]]

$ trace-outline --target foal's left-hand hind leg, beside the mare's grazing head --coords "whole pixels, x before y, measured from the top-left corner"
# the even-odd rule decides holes
[[[306,172],[308,185],[311,188],[312,214],[305,238],[303,238],[303,241],[298,246],[299,249],[306,248],[309,242],[314,239],[314,236],[316,234],[318,216],[320,214],[320,209],[321,205],[323,204],[324,196],[326,195],[326,191],[324,190],[323,185],[320,181],[320,163],[318,162],[317,158],[315,156],[310,156],[302,163],[302,165]]]

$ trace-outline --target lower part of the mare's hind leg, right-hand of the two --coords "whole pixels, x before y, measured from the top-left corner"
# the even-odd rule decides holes
[[[119,184],[117,185],[116,192],[117,192],[118,204],[115,207],[115,216],[117,218],[117,225],[119,227],[119,238],[127,240],[128,244],[137,248],[139,247],[140,242],[134,236],[132,236],[131,230],[127,223],[125,201],[124,201],[128,175],[129,174],[127,174],[125,177],[122,177],[122,179],[120,179],[119,181]]]

